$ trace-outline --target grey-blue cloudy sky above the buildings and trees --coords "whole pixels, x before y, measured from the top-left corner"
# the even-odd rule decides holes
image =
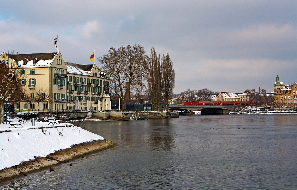
[[[170,52],[174,93],[210,88],[273,91],[276,76],[297,82],[297,1],[1,1],[0,48],[59,50],[89,64],[108,49],[141,44]],[[1,51],[1,50],[0,50]]]

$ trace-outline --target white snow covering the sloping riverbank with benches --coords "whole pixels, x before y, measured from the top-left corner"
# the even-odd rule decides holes
[[[65,124],[68,126],[66,127]],[[24,128],[9,128],[9,126],[9,124],[0,124],[0,132],[11,130],[11,132],[0,133],[0,170],[34,159],[35,156],[45,157],[57,150],[70,148],[74,144],[104,139],[69,123],[46,128],[45,134],[37,127],[50,127],[48,123],[36,123],[36,126],[25,123]],[[59,135],[62,132],[63,136]]]

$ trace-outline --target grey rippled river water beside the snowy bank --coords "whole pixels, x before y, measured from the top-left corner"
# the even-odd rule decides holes
[[[0,189],[297,189],[296,115],[87,122],[118,146]]]

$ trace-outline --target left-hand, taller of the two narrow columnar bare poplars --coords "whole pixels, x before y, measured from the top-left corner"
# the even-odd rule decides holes
[[[161,67],[160,55],[157,56],[154,47],[151,47],[151,56],[147,65],[147,82],[148,94],[152,102],[152,110],[160,111],[162,104],[162,88],[161,88]]]

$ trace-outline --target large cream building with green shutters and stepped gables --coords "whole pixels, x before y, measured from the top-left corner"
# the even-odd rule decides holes
[[[15,64],[19,67],[22,75],[20,84],[28,95],[28,99],[22,101],[16,109],[87,110],[91,106],[95,110],[110,109],[110,80],[95,63],[86,66],[69,63],[67,66],[60,51],[39,54],[3,52],[1,59],[7,65]],[[74,77],[76,83],[73,83]],[[96,83],[92,83],[95,80]]]

